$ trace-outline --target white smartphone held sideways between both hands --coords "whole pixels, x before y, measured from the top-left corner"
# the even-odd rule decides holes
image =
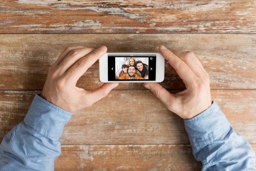
[[[164,58],[156,52],[108,52],[99,59],[101,82],[162,82]]]

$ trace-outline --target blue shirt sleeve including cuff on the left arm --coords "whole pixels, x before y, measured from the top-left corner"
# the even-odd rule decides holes
[[[0,145],[0,171],[53,171],[64,125],[72,113],[36,94],[24,120]]]

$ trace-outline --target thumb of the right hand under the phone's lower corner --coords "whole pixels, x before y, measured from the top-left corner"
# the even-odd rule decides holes
[[[143,83],[144,87],[151,90],[151,92],[159,98],[160,101],[172,112],[175,111],[174,105],[175,104],[175,95],[169,93],[165,88],[163,88],[158,83]]]

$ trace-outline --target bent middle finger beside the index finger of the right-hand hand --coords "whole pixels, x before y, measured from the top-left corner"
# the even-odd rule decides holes
[[[178,56],[181,60],[186,62],[189,68],[195,73],[198,78],[204,78],[205,72],[203,65],[199,62],[198,58],[191,51],[189,52],[173,52],[176,56]]]

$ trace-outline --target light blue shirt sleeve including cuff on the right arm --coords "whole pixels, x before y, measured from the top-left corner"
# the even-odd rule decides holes
[[[203,164],[202,171],[256,171],[250,143],[234,131],[215,101],[184,123],[193,155]]]

